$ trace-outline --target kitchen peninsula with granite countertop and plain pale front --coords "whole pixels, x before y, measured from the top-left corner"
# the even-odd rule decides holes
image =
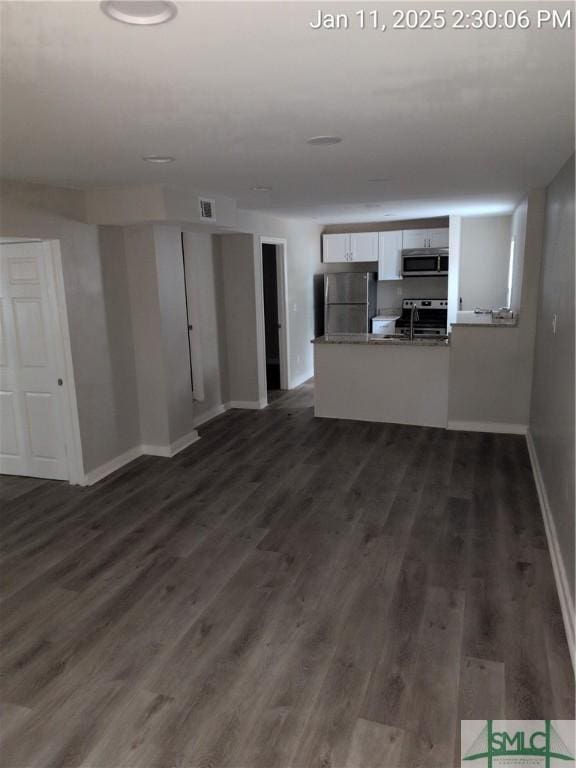
[[[447,426],[446,337],[335,334],[313,344],[316,416]]]

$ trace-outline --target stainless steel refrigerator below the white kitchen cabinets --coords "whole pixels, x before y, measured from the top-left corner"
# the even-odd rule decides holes
[[[376,272],[324,276],[324,333],[370,333],[376,314]]]

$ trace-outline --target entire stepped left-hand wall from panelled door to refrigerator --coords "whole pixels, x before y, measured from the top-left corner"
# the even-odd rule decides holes
[[[133,218],[142,212],[146,218],[165,206],[166,189],[164,203],[158,188],[141,191],[148,207],[140,197],[138,205],[125,194],[121,200],[132,206]],[[194,203],[191,198],[178,202],[174,190],[169,198],[184,213]],[[194,418],[222,403],[259,402],[254,279],[261,236],[287,241],[290,385],[313,374],[319,225],[238,211],[237,228],[243,234],[194,235],[193,251],[207,254],[212,246],[212,257],[201,256],[199,273],[206,399],[193,407],[181,226],[143,223],[99,229],[83,223],[87,208],[95,220],[102,209],[107,221],[125,223],[124,214],[118,218],[114,205],[110,207],[115,199],[41,185],[2,186],[2,235],[61,241],[86,472],[142,443],[173,444],[192,429]],[[221,208],[228,217],[235,214],[230,205]],[[159,403],[167,404],[167,410]]]

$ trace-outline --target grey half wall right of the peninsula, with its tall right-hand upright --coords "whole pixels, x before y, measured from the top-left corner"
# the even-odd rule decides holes
[[[521,306],[516,327],[452,327],[448,423],[460,428],[526,431],[530,413],[537,293],[544,229],[542,190],[513,216]],[[514,229],[516,225],[516,229]],[[525,236],[523,235],[525,232]],[[519,279],[519,278],[518,278]]]

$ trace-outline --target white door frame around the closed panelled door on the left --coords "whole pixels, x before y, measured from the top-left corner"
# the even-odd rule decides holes
[[[60,378],[64,381],[64,386],[58,387],[58,394],[60,413],[63,420],[68,482],[72,485],[84,485],[86,475],[82,456],[80,420],[78,417],[76,382],[72,364],[70,325],[66,306],[60,241],[42,240],[32,237],[0,237],[0,245],[18,245],[23,243],[42,243],[44,246],[44,272],[50,303],[48,310],[52,314],[54,328],[58,331],[57,338],[54,339],[56,362],[60,371]]]

